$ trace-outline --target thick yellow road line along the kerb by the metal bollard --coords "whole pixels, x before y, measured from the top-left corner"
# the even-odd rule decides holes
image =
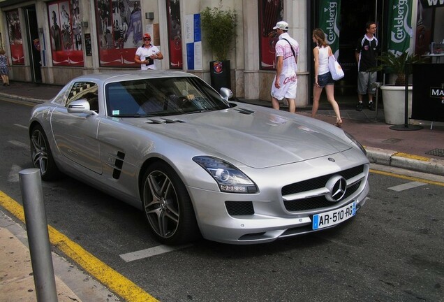
[[[1,191],[0,206],[3,206],[3,208],[8,210],[23,223],[25,222],[22,205]],[[48,232],[50,234],[50,242],[52,245],[57,246],[62,252],[64,252],[64,254],[66,254],[66,256],[73,259],[73,261],[81,266],[89,275],[96,278],[96,280],[107,286],[118,296],[121,296],[129,302],[158,301],[142,288],[138,287],[138,285],[135,285],[131,280],[128,280],[123,275],[117,273],[117,271],[114,271],[114,269],[103,263],[103,261],[97,259],[94,255],[87,252],[87,250],[84,250],[83,247],[57,231],[57,229],[48,225]]]

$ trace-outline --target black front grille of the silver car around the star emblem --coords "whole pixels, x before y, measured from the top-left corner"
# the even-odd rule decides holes
[[[290,194],[309,192],[315,189],[322,189],[325,188],[327,181],[330,178],[332,178],[333,175],[341,175],[343,178],[346,178],[346,180],[350,180],[351,178],[354,178],[355,176],[360,175],[363,172],[364,172],[364,166],[357,166],[354,168],[349,168],[344,171],[339,171],[338,173],[323,175],[318,178],[313,178],[310,180],[304,180],[302,182],[293,183],[291,185],[286,185],[285,187],[282,188],[281,192],[283,196],[286,196]],[[341,200],[336,202],[328,201],[325,198],[325,195],[319,195],[305,199],[283,201],[283,204],[286,210],[289,210],[291,212],[315,210],[318,208],[328,208],[334,206],[336,203],[340,203],[344,199],[347,199],[348,197],[355,194],[357,190],[360,188],[362,181],[364,181],[364,178],[350,185],[350,187],[347,187],[346,194],[344,194]]]

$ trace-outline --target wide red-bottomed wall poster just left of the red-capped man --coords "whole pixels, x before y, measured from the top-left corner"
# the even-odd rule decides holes
[[[139,67],[134,55],[144,34],[140,1],[96,0],[96,20],[101,66]]]

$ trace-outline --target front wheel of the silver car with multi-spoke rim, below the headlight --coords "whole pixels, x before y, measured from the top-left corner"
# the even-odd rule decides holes
[[[143,178],[142,201],[149,227],[161,243],[178,245],[200,237],[186,187],[167,164],[149,166]]]

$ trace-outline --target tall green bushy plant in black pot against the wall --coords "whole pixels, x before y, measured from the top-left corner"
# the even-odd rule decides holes
[[[230,60],[228,53],[235,47],[235,10],[205,8],[200,12],[200,22],[205,36],[205,46],[212,51],[214,61],[209,62],[212,87],[218,92],[221,87],[231,88]]]

